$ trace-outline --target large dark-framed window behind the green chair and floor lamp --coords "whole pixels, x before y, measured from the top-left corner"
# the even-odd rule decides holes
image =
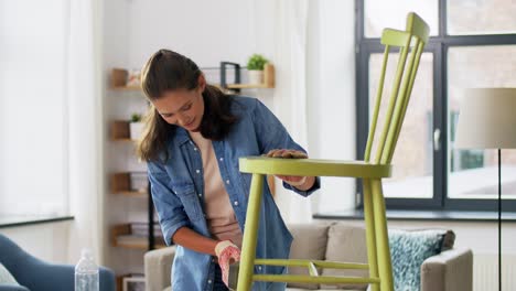
[[[516,87],[516,3],[510,0],[356,1],[357,155],[363,158],[384,47],[384,28],[409,11],[431,30],[385,181],[388,208],[495,211],[497,151],[456,150],[460,104],[470,87]],[[387,68],[387,76],[394,74]],[[387,83],[386,83],[387,84]],[[386,89],[388,91],[388,89]],[[516,133],[516,130],[515,130]],[[504,208],[516,209],[516,150],[502,150]]]

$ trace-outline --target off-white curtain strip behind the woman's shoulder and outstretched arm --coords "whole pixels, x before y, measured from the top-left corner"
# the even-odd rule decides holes
[[[308,147],[307,110],[307,29],[309,1],[275,1],[273,20],[276,88],[273,111],[283,122],[292,138]],[[311,198],[304,198],[281,186],[276,181],[277,204],[287,223],[311,220]]]

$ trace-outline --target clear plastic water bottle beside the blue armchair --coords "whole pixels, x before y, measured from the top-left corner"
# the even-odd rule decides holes
[[[89,249],[83,249],[75,266],[75,291],[99,291],[98,266]]]

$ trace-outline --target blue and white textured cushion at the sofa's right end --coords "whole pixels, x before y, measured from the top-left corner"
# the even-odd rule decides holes
[[[444,241],[445,234],[449,234],[447,238],[449,241]],[[453,233],[441,229],[389,229],[395,290],[419,290],[422,262],[440,254],[443,247],[451,248],[451,234]]]

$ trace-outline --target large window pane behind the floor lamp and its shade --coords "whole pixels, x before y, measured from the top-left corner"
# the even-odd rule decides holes
[[[449,197],[496,198],[496,150],[455,150],[455,127],[465,88],[516,87],[516,45],[452,47],[448,60]],[[503,194],[516,198],[516,150],[502,151]]]

